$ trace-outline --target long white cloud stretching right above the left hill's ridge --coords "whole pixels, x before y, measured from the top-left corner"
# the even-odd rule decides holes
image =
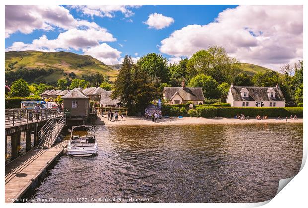
[[[23,42],[15,42],[5,51],[24,51],[24,50],[44,50],[56,51],[57,49],[80,50],[88,47],[98,46],[101,42],[116,41],[112,34],[107,32],[105,28],[100,29],[69,29],[60,33],[56,39],[47,39],[46,35],[39,39],[34,39],[31,44]]]

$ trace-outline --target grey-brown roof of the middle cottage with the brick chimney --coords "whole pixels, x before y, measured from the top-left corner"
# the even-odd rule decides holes
[[[184,101],[203,101],[204,95],[201,87],[164,87],[165,98],[171,100],[176,94]]]

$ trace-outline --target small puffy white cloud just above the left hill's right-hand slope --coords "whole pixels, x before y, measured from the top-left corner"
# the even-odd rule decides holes
[[[85,55],[91,55],[94,58],[104,62],[107,65],[119,64],[120,54],[122,52],[118,51],[115,48],[112,48],[106,43],[102,43],[98,46],[87,48],[83,50]]]

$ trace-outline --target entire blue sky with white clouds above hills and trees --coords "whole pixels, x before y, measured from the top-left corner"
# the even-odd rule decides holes
[[[68,51],[105,64],[210,46],[279,70],[303,59],[302,5],[6,5],[5,51]]]

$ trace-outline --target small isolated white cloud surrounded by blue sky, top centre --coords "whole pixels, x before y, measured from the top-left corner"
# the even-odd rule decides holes
[[[149,25],[148,28],[155,28],[160,30],[165,27],[169,27],[174,22],[172,17],[166,17],[162,14],[157,14],[156,12],[149,15],[149,18],[144,23]]]

